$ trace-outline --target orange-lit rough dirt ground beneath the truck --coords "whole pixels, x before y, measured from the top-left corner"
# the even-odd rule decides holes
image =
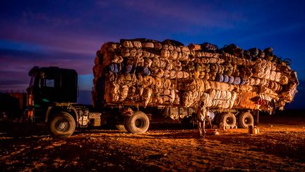
[[[305,171],[305,117],[261,116],[260,134],[218,130],[198,137],[181,125],[145,134],[81,130],[53,139],[39,129],[1,125],[4,171]],[[9,131],[8,131],[9,128]],[[211,130],[209,132],[212,132]],[[22,134],[21,134],[22,133]]]

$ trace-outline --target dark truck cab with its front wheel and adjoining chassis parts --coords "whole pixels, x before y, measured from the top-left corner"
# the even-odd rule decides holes
[[[76,104],[78,74],[75,70],[33,67],[29,76],[25,120],[46,122],[53,137],[68,137],[76,127],[87,127],[88,107]],[[91,120],[100,120],[100,113],[92,113]]]

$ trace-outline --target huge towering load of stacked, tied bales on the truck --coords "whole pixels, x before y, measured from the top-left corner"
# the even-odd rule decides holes
[[[94,105],[143,105],[270,110],[297,92],[297,74],[271,48],[218,49],[203,43],[134,39],[97,51]]]

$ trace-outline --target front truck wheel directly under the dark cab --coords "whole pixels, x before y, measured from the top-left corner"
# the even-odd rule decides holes
[[[64,112],[56,113],[49,121],[49,131],[52,137],[68,137],[76,128],[74,118]]]

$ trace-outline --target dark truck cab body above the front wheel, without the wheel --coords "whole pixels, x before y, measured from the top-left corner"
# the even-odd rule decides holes
[[[42,118],[47,108],[53,103],[76,103],[78,74],[75,70],[33,67],[29,76],[31,80],[27,88],[28,110],[35,108],[35,115],[28,115],[30,120],[36,122],[44,120]]]

